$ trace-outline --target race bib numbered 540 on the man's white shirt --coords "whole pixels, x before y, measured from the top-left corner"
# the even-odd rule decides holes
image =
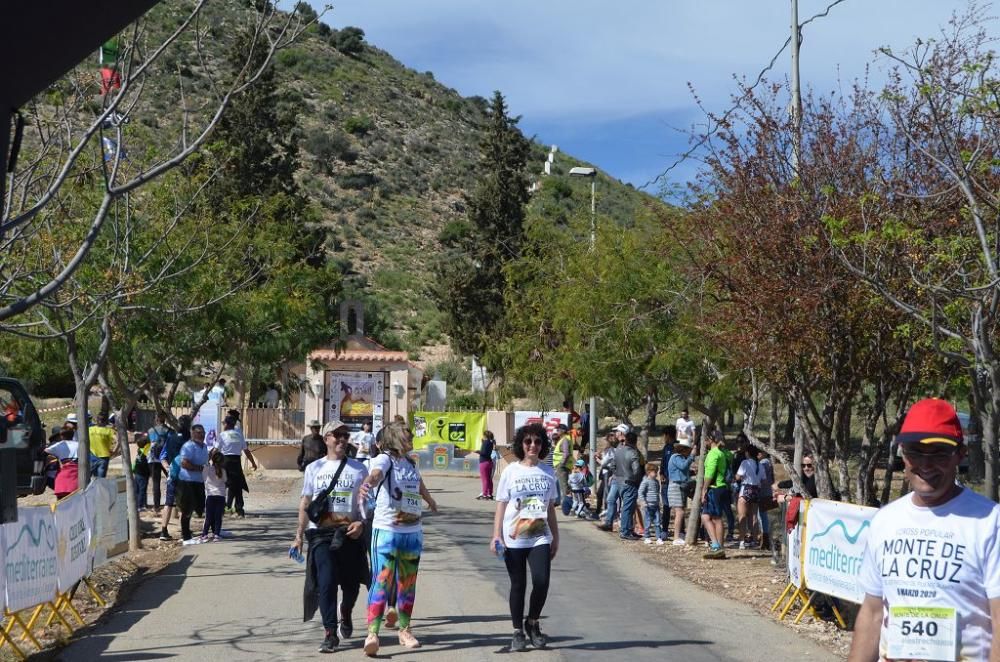
[[[951,607],[890,607],[891,660],[958,659],[958,618]]]

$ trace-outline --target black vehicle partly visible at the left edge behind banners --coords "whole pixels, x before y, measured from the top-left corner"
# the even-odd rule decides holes
[[[0,448],[15,449],[17,495],[45,491],[45,429],[28,391],[0,377]]]

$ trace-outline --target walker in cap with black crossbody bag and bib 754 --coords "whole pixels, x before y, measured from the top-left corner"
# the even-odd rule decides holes
[[[351,611],[361,592],[361,584],[368,579],[365,546],[361,539],[364,520],[358,497],[368,470],[357,460],[347,457],[351,431],[346,425],[331,421],[323,432],[327,454],[310,463],[302,476],[299,527],[292,547],[301,552],[302,535],[307,534],[305,620],[312,618],[318,606],[326,630],[319,650],[332,653],[340,644],[337,587],[344,592],[340,603],[340,634],[347,639],[354,633]],[[337,482],[332,484],[335,478]],[[313,499],[323,494],[327,495],[327,512],[316,524],[309,520],[306,509]]]

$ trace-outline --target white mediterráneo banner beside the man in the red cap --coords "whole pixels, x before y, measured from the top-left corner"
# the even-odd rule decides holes
[[[858,587],[865,545],[876,508],[811,499],[806,508],[802,573],[806,587],[861,604]],[[791,556],[791,554],[789,554]]]

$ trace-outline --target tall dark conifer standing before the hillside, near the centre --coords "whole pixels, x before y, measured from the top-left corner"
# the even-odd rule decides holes
[[[494,372],[501,365],[491,350],[505,334],[504,268],[521,256],[528,201],[530,143],[517,121],[507,115],[503,95],[495,92],[468,200],[471,232],[455,237],[457,248],[443,261],[436,292],[455,347],[480,357]]]

